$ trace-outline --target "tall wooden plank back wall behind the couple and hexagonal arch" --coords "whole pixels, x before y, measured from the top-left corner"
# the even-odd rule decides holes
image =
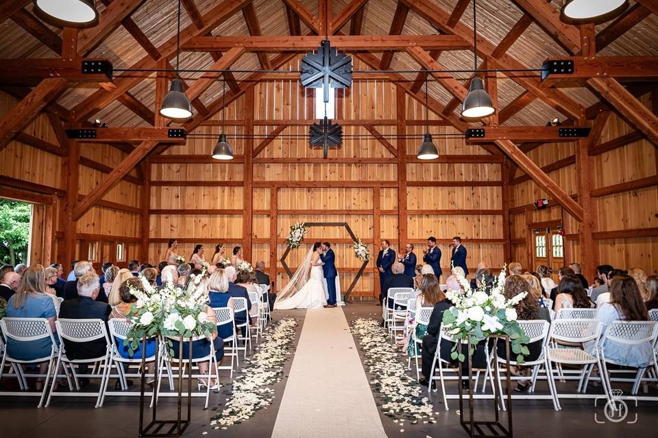
[[[313,108],[313,91],[304,90],[294,79],[258,83],[252,95],[247,93],[228,107],[226,131],[230,134],[249,134],[249,120],[253,118],[254,134],[258,136],[254,139],[255,150],[263,137],[280,125],[288,125],[253,157],[252,172],[247,172],[245,140],[240,138],[230,138],[236,154],[233,162],[219,164],[208,159],[221,129],[221,113],[195,130],[195,134],[208,134],[208,138],[188,138],[186,145],[172,146],[164,157],[151,158],[151,263],[162,259],[170,237],[178,239],[180,254],[187,258],[199,243],[206,246],[208,259],[218,242],[230,247],[243,245],[243,233],[251,217],[252,246],[245,248],[246,258],[265,261],[276,278],[277,289],[287,282],[278,260],[286,248],[289,228],[297,222],[348,222],[354,233],[369,244],[374,257],[381,239],[390,240],[396,251],[401,244],[413,242],[416,253],[422,255],[421,245],[426,244],[429,235],[435,235],[443,250],[444,269],[450,264],[448,243],[453,235],[461,235],[469,250],[469,266],[475,267],[480,260],[488,261],[493,268],[502,266],[500,162],[491,163],[483,157],[481,164],[423,164],[415,159],[422,141],[419,138],[399,143],[387,138],[393,151],[373,136],[350,138],[355,133],[367,134],[360,126],[365,124],[384,135],[395,134],[398,129],[412,134],[424,131],[419,126],[424,118],[422,105],[399,92],[395,85],[376,80],[355,81],[352,88],[337,94],[336,118],[350,123],[343,127],[343,146],[330,150],[330,160],[325,162],[321,150],[308,146],[308,125],[300,122],[313,118]],[[398,123],[398,112],[403,111],[407,123]],[[456,133],[439,123],[436,116],[430,118],[432,132]],[[467,146],[461,138],[437,138],[436,143],[441,155],[488,155],[478,146]],[[397,151],[407,155],[408,161],[402,167],[406,173],[402,182],[398,181],[400,167],[393,155]],[[245,177],[250,174],[254,188],[245,193]],[[437,185],[448,181],[451,186],[430,187],[426,181]],[[470,181],[478,181],[478,186]],[[400,193],[402,184],[409,185],[406,193]],[[403,209],[400,205],[404,201]],[[469,212],[473,210],[478,214]],[[479,214],[480,210],[487,211]],[[405,227],[400,227],[400,222]],[[342,287],[347,289],[361,266],[354,257],[348,233],[342,228],[313,228],[305,242],[310,245],[316,240],[333,242]],[[306,244],[289,255],[287,262],[292,268],[306,255]],[[373,291],[378,291],[374,265],[371,261],[356,285],[354,298],[372,299]]]

